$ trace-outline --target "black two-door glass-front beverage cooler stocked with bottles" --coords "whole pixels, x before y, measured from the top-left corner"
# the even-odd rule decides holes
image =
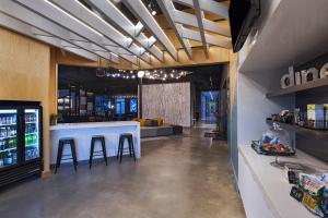
[[[0,100],[0,187],[40,175],[42,114],[39,102]]]

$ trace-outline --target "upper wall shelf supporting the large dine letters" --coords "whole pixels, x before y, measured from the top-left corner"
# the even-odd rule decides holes
[[[321,86],[326,86],[326,85],[328,85],[328,77],[307,82],[302,85],[295,85],[295,86],[292,86],[289,88],[281,88],[281,89],[274,90],[274,92],[270,92],[267,94],[267,98],[283,96],[283,95],[293,94],[293,93],[297,93],[297,92],[306,90],[306,89],[311,89],[311,88],[317,88],[317,87],[321,87]]]

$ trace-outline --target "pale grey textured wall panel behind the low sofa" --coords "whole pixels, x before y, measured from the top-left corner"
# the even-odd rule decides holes
[[[142,118],[163,118],[165,123],[190,126],[190,83],[143,85]]]

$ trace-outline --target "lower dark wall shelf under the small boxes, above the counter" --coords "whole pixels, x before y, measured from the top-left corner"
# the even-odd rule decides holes
[[[281,122],[278,122],[278,123],[282,129],[284,129],[286,131],[293,131],[293,132],[302,134],[302,135],[309,135],[309,136],[314,136],[314,137],[320,138],[320,140],[328,140],[328,131],[307,129],[307,128],[302,128],[298,125],[286,124],[286,123],[281,123]],[[267,120],[267,124],[272,125],[273,121]]]

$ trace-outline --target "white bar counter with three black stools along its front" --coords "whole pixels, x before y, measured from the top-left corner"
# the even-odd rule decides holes
[[[107,157],[116,156],[119,135],[131,133],[136,157],[140,158],[140,123],[136,121],[91,122],[91,123],[63,123],[50,126],[51,164],[56,162],[59,138],[73,137],[75,141],[78,160],[89,160],[91,138],[93,135],[105,136]],[[99,148],[96,145],[96,150]],[[127,142],[125,147],[127,147]],[[63,154],[71,154],[69,146]],[[101,158],[101,157],[97,157]],[[70,161],[70,160],[69,160]]]

